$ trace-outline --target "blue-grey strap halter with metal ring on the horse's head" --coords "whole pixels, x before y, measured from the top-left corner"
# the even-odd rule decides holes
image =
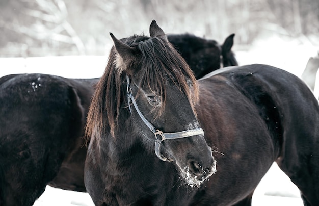
[[[138,112],[139,116],[143,120],[143,122],[146,124],[146,126],[154,133],[155,136],[155,154],[156,156],[163,160],[163,161],[168,161],[171,162],[173,160],[168,159],[164,156],[161,155],[161,144],[164,140],[166,139],[179,139],[179,138],[184,138],[184,137],[191,137],[195,135],[204,135],[204,131],[202,128],[196,128],[193,130],[186,130],[186,131],[181,131],[181,132],[174,132],[174,133],[164,133],[161,130],[156,129],[142,114],[142,112],[139,110],[136,101],[134,99],[134,96],[132,95],[132,89],[130,88],[130,82],[129,82],[129,77],[126,76],[126,83],[127,83],[127,100],[128,100],[128,107],[130,113],[132,113],[131,107],[130,107],[130,101],[132,101],[136,111]],[[159,138],[160,137],[160,138]]]

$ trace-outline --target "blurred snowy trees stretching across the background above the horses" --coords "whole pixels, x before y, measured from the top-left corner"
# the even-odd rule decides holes
[[[265,31],[319,36],[318,0],[1,0],[0,15],[0,56],[104,55],[109,32],[148,32],[152,19],[219,42],[236,33],[236,44]]]

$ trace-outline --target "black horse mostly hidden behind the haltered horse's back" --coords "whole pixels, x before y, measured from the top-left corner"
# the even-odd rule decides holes
[[[222,45],[192,34],[170,34],[167,38],[191,67],[196,79],[200,79],[218,68],[238,65],[231,50],[234,36],[229,35]]]

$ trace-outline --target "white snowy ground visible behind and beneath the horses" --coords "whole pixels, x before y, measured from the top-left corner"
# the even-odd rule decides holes
[[[255,42],[248,51],[234,51],[240,65],[261,63],[277,66],[301,76],[310,56],[319,50],[298,41],[276,37]],[[49,73],[67,78],[96,78],[102,75],[107,56],[0,58],[0,76],[13,73]],[[65,191],[47,186],[35,206],[93,205],[87,193]],[[303,205],[298,188],[274,164],[264,176],[253,196],[253,205]]]

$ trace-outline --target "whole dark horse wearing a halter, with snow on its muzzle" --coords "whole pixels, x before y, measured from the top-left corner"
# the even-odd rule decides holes
[[[248,65],[196,82],[155,21],[150,37],[111,36],[86,131],[96,205],[251,205],[274,161],[319,202],[319,105],[299,78]]]

